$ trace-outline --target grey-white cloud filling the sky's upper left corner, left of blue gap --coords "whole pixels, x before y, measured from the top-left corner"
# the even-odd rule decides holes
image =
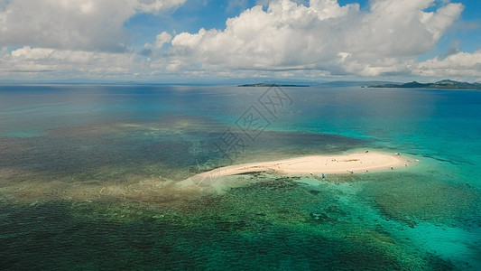
[[[0,46],[125,51],[124,23],[185,0],[10,0],[0,5]]]

